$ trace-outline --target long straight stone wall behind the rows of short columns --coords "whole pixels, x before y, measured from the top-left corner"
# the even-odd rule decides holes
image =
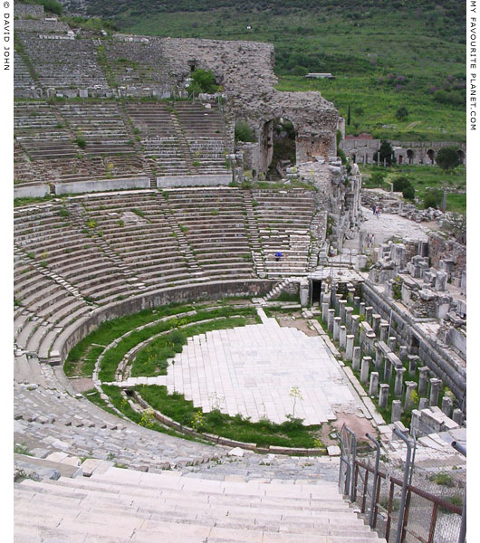
[[[462,405],[466,396],[465,368],[459,367],[445,350],[440,351],[433,341],[425,338],[408,315],[399,315],[394,305],[385,300],[367,283],[362,283],[361,291],[362,299],[368,306],[372,306],[375,312],[381,315],[382,319],[389,320],[390,310],[393,309],[390,335],[406,345],[411,345],[412,338],[417,338],[419,342],[418,356],[421,358],[422,363],[429,367],[438,378],[442,379]]]

